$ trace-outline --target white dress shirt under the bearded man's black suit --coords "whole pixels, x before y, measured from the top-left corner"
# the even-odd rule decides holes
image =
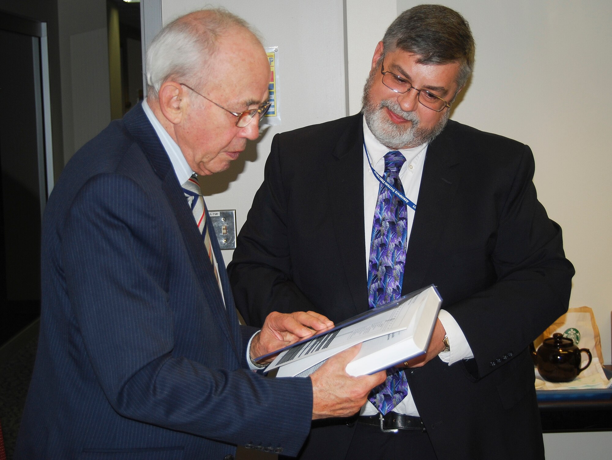
[[[367,153],[370,154],[370,160],[372,167],[381,176],[384,175],[384,156],[390,151],[389,148],[381,144],[376,137],[371,133],[364,118],[364,141]],[[423,167],[425,165],[425,156],[427,155],[428,144],[419,145],[411,149],[401,149],[400,153],[405,157],[406,162],[400,169],[400,180],[404,188],[404,195],[411,202],[417,205],[418,209],[418,198],[419,189],[421,183],[421,177],[423,175]],[[370,261],[370,243],[372,234],[372,224],[374,221],[374,211],[376,208],[376,200],[378,200],[378,189],[380,183],[376,176],[370,169],[370,162],[368,162],[368,156],[364,148],[364,226],[365,226],[365,270],[368,271],[368,263]],[[407,225],[408,235],[406,235],[406,241],[410,241],[410,233],[412,230],[412,222],[414,222],[414,213],[411,208],[408,208]],[[408,249],[406,249],[408,251]],[[457,361],[473,358],[469,347],[468,341],[461,331],[461,328],[455,321],[455,319],[446,310],[440,310],[438,315],[442,326],[446,330],[446,334],[449,337],[450,352],[442,352],[438,356],[442,361],[453,364]],[[409,372],[409,370],[406,370]],[[403,401],[400,402],[393,409],[394,412],[403,413],[406,415],[419,415],[414,399],[408,388],[408,395]],[[375,415],[378,410],[370,403],[366,402],[364,407],[361,408],[361,415]]]

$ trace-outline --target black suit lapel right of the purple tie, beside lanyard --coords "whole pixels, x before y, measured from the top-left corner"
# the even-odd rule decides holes
[[[450,126],[452,123],[449,121]],[[403,294],[423,287],[425,274],[457,192],[460,180],[457,165],[461,157],[448,132],[447,126],[427,148],[417,211],[406,253]]]

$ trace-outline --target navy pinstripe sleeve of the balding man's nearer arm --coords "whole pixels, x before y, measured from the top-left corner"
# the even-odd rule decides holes
[[[310,379],[264,379],[173,353],[171,300],[159,281],[173,263],[159,211],[131,179],[99,175],[61,229],[66,289],[95,379],[123,417],[297,454],[310,429]]]

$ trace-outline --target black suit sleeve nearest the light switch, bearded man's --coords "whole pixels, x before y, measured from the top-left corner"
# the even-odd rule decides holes
[[[236,307],[248,325],[262,326],[272,311],[315,309],[291,276],[286,221],[285,187],[275,136],[264,182],[255,194],[228,265]]]

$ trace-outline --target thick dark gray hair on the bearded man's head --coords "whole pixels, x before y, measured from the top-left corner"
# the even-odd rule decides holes
[[[401,13],[383,37],[384,52],[396,48],[419,56],[419,64],[459,62],[462,88],[474,69],[476,43],[468,21],[442,5],[418,5]]]

